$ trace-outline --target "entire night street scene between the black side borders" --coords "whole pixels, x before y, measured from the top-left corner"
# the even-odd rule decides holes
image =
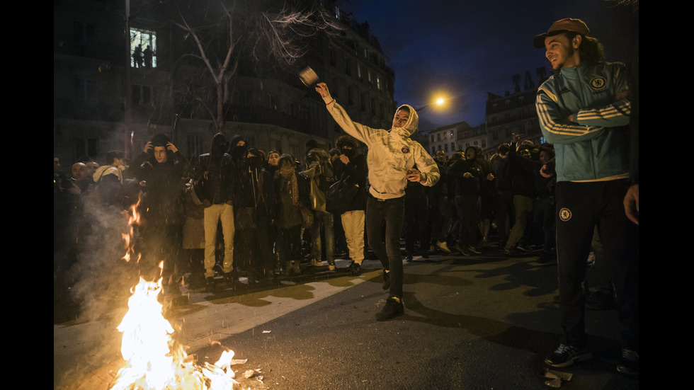
[[[54,1],[54,389],[638,389],[638,85],[638,0]]]

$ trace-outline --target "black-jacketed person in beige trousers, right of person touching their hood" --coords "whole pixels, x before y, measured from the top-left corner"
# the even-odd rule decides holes
[[[224,260],[222,273],[227,282],[234,282],[234,207],[232,186],[234,163],[226,153],[229,144],[224,134],[212,138],[210,153],[200,155],[195,167],[195,194],[203,202],[205,212],[205,279],[207,287],[215,286],[217,225],[222,222]]]

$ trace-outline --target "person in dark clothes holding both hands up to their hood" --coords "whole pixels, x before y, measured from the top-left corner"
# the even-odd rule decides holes
[[[142,199],[141,232],[144,239],[140,267],[144,273],[161,270],[165,293],[178,293],[182,276],[181,241],[183,237],[183,185],[190,177],[190,164],[165,134],[147,142],[131,164],[132,176],[140,181]]]

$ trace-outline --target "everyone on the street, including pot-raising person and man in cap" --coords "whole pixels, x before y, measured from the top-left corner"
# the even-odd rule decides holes
[[[629,164],[629,125],[636,127],[632,144],[638,132],[627,72],[602,62],[599,42],[578,19],[555,22],[534,45],[559,72],[542,84],[536,103],[554,146],[513,134],[490,158],[470,146],[432,159],[409,138],[419,122],[414,108],[400,106],[390,130],[372,129],[353,122],[320,83],[317,92],[346,132],[329,151],[311,140],[303,156],[266,153],[219,133],[210,152],[191,162],[157,134],[129,164],[111,152],[105,165],[83,159],[67,176],[54,159],[56,280],[74,263],[80,235],[98,227],[85,219],[88,200],[122,218],[137,205],[140,274],[159,273],[171,294],[181,284],[215,289],[220,279],[234,289],[240,277],[262,284],[302,273],[302,263],[335,270],[338,256],[348,256],[350,272],[360,275],[363,260],[380,260],[389,297],[379,321],[404,310],[401,241],[405,260],[437,251],[533,251],[540,263],[559,258],[564,341],[545,363],[565,367],[592,357],[585,281],[599,241],[615,264],[608,283],[625,343],[618,369],[638,372],[638,259],[630,251],[638,161]],[[557,101],[569,89],[576,96]]]

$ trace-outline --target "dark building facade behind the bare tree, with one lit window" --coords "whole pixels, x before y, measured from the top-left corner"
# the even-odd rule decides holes
[[[169,134],[189,158],[209,151],[217,131],[227,137],[241,134],[254,147],[300,160],[308,139],[329,149],[343,132],[318,93],[299,80],[305,66],[317,71],[355,120],[386,124],[392,119],[394,72],[368,24],[354,21],[334,1],[307,0],[294,3],[304,9],[322,6],[339,28],[306,38],[309,50],[292,67],[250,55],[257,49],[251,35],[237,33],[241,41],[232,52],[234,71],[223,80],[220,94],[220,129],[212,120],[217,112],[211,103],[217,99],[210,71],[175,18],[167,18],[166,9],[148,8],[156,3],[54,3],[54,156],[64,166],[87,157],[103,164],[101,158],[112,150],[137,153],[157,133]],[[215,21],[206,47],[224,53],[233,39],[228,23],[250,30],[253,19],[244,12],[276,13],[285,3],[254,1],[242,11],[235,8],[226,25]]]

